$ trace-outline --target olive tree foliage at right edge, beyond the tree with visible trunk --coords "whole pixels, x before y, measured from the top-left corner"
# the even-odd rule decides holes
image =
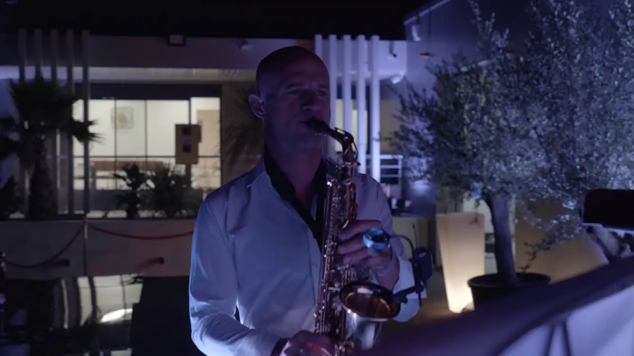
[[[525,202],[562,204],[553,219],[533,218],[548,232],[533,246],[534,259],[579,236],[588,191],[634,187],[634,12],[630,0],[612,1],[607,14],[575,1],[534,0],[530,14],[535,26],[521,56],[529,75],[517,77],[516,96],[533,108],[527,116],[547,169]],[[589,232],[608,260],[630,255],[631,237]]]

